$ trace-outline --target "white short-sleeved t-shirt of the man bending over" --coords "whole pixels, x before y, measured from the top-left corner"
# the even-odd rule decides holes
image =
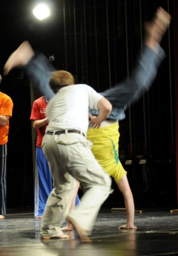
[[[87,84],[65,86],[48,102],[47,130],[80,129],[87,132],[89,110],[98,109],[103,96]]]

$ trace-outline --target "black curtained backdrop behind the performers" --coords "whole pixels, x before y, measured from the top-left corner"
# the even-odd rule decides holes
[[[119,155],[128,171],[136,207],[177,205],[175,168],[174,1],[51,0],[52,15],[33,17],[37,1],[1,2],[0,72],[8,56],[24,40],[52,58],[56,68],[75,75],[98,92],[128,77],[144,45],[144,22],[158,6],[172,15],[161,42],[167,58],[151,90],[126,111],[119,122]],[[20,69],[3,77],[1,91],[14,102],[8,142],[8,208],[33,207],[33,144],[29,80]],[[38,95],[40,96],[40,95]],[[105,154],[105,152],[103,152]],[[130,159],[131,164],[125,164]],[[146,164],[140,164],[145,159]],[[115,191],[103,206],[123,207]]]

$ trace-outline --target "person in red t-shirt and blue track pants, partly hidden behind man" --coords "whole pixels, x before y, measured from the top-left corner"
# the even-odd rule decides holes
[[[30,119],[37,131],[36,139],[36,170],[34,178],[34,217],[41,218],[45,209],[48,195],[52,191],[52,177],[47,159],[43,155],[41,143],[48,125],[45,115],[47,99],[44,96],[34,100]]]

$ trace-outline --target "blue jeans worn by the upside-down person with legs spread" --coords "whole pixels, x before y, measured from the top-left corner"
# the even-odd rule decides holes
[[[108,118],[112,120],[125,118],[124,111],[126,108],[142,97],[145,91],[149,90],[164,58],[165,52],[159,45],[157,52],[144,45],[143,52],[139,54],[130,77],[101,93],[110,100],[113,107]],[[50,100],[54,96],[54,92],[52,92],[48,82],[50,80],[50,72],[55,71],[50,61],[41,53],[34,54],[23,69],[33,82],[33,86]],[[92,114],[97,115],[97,111],[94,109]]]

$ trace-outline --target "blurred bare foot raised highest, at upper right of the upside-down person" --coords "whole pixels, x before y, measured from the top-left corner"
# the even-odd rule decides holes
[[[157,45],[161,42],[163,35],[165,35],[168,29],[170,20],[170,14],[159,7],[154,19],[145,23],[145,45],[156,51]]]

